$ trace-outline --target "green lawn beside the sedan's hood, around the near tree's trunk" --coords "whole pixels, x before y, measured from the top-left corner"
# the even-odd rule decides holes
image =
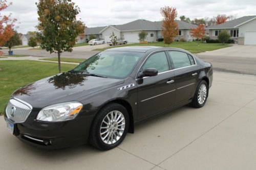
[[[61,64],[62,71],[74,68],[73,64]],[[58,63],[29,60],[1,61],[0,67],[0,114],[8,103],[10,95],[19,87],[58,74]]]

